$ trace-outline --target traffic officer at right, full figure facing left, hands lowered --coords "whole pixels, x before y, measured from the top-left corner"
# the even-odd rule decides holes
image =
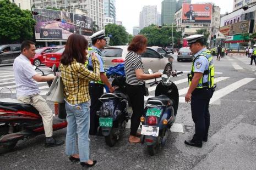
[[[185,101],[191,101],[192,119],[195,123],[195,134],[185,144],[201,148],[202,141],[208,140],[210,126],[209,103],[214,92],[213,57],[205,48],[203,35],[193,35],[184,38],[188,41],[194,54],[192,70],[188,74],[189,89]]]

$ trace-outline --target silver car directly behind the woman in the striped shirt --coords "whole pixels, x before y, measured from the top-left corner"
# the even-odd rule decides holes
[[[123,63],[128,53],[128,46],[110,46],[102,50],[102,57],[105,60],[106,69],[110,66]],[[144,64],[145,72],[150,68],[154,72],[164,69],[164,73],[169,75],[172,71],[172,61],[174,58],[171,55],[161,55],[151,47],[146,48],[146,52],[141,54],[141,60]]]

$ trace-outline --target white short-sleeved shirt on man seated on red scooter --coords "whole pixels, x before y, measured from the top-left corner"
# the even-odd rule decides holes
[[[30,60],[25,55],[20,54],[13,63],[14,78],[17,87],[17,96],[31,96],[39,94],[38,84],[32,78],[37,73]]]

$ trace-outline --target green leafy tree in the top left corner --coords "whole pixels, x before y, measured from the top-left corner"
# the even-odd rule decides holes
[[[9,0],[0,1],[0,44],[32,39],[35,20],[29,10],[21,10]]]

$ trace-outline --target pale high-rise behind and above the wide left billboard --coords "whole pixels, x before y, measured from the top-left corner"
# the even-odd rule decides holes
[[[84,0],[84,1],[73,1],[73,0],[31,0],[31,5],[35,5],[35,8],[70,8],[79,7],[86,11],[86,16],[92,18],[95,24],[99,26],[99,30],[104,29],[104,0]],[[57,3],[56,3],[57,2]],[[70,10],[72,12],[72,10]],[[74,12],[74,10],[73,10]]]

